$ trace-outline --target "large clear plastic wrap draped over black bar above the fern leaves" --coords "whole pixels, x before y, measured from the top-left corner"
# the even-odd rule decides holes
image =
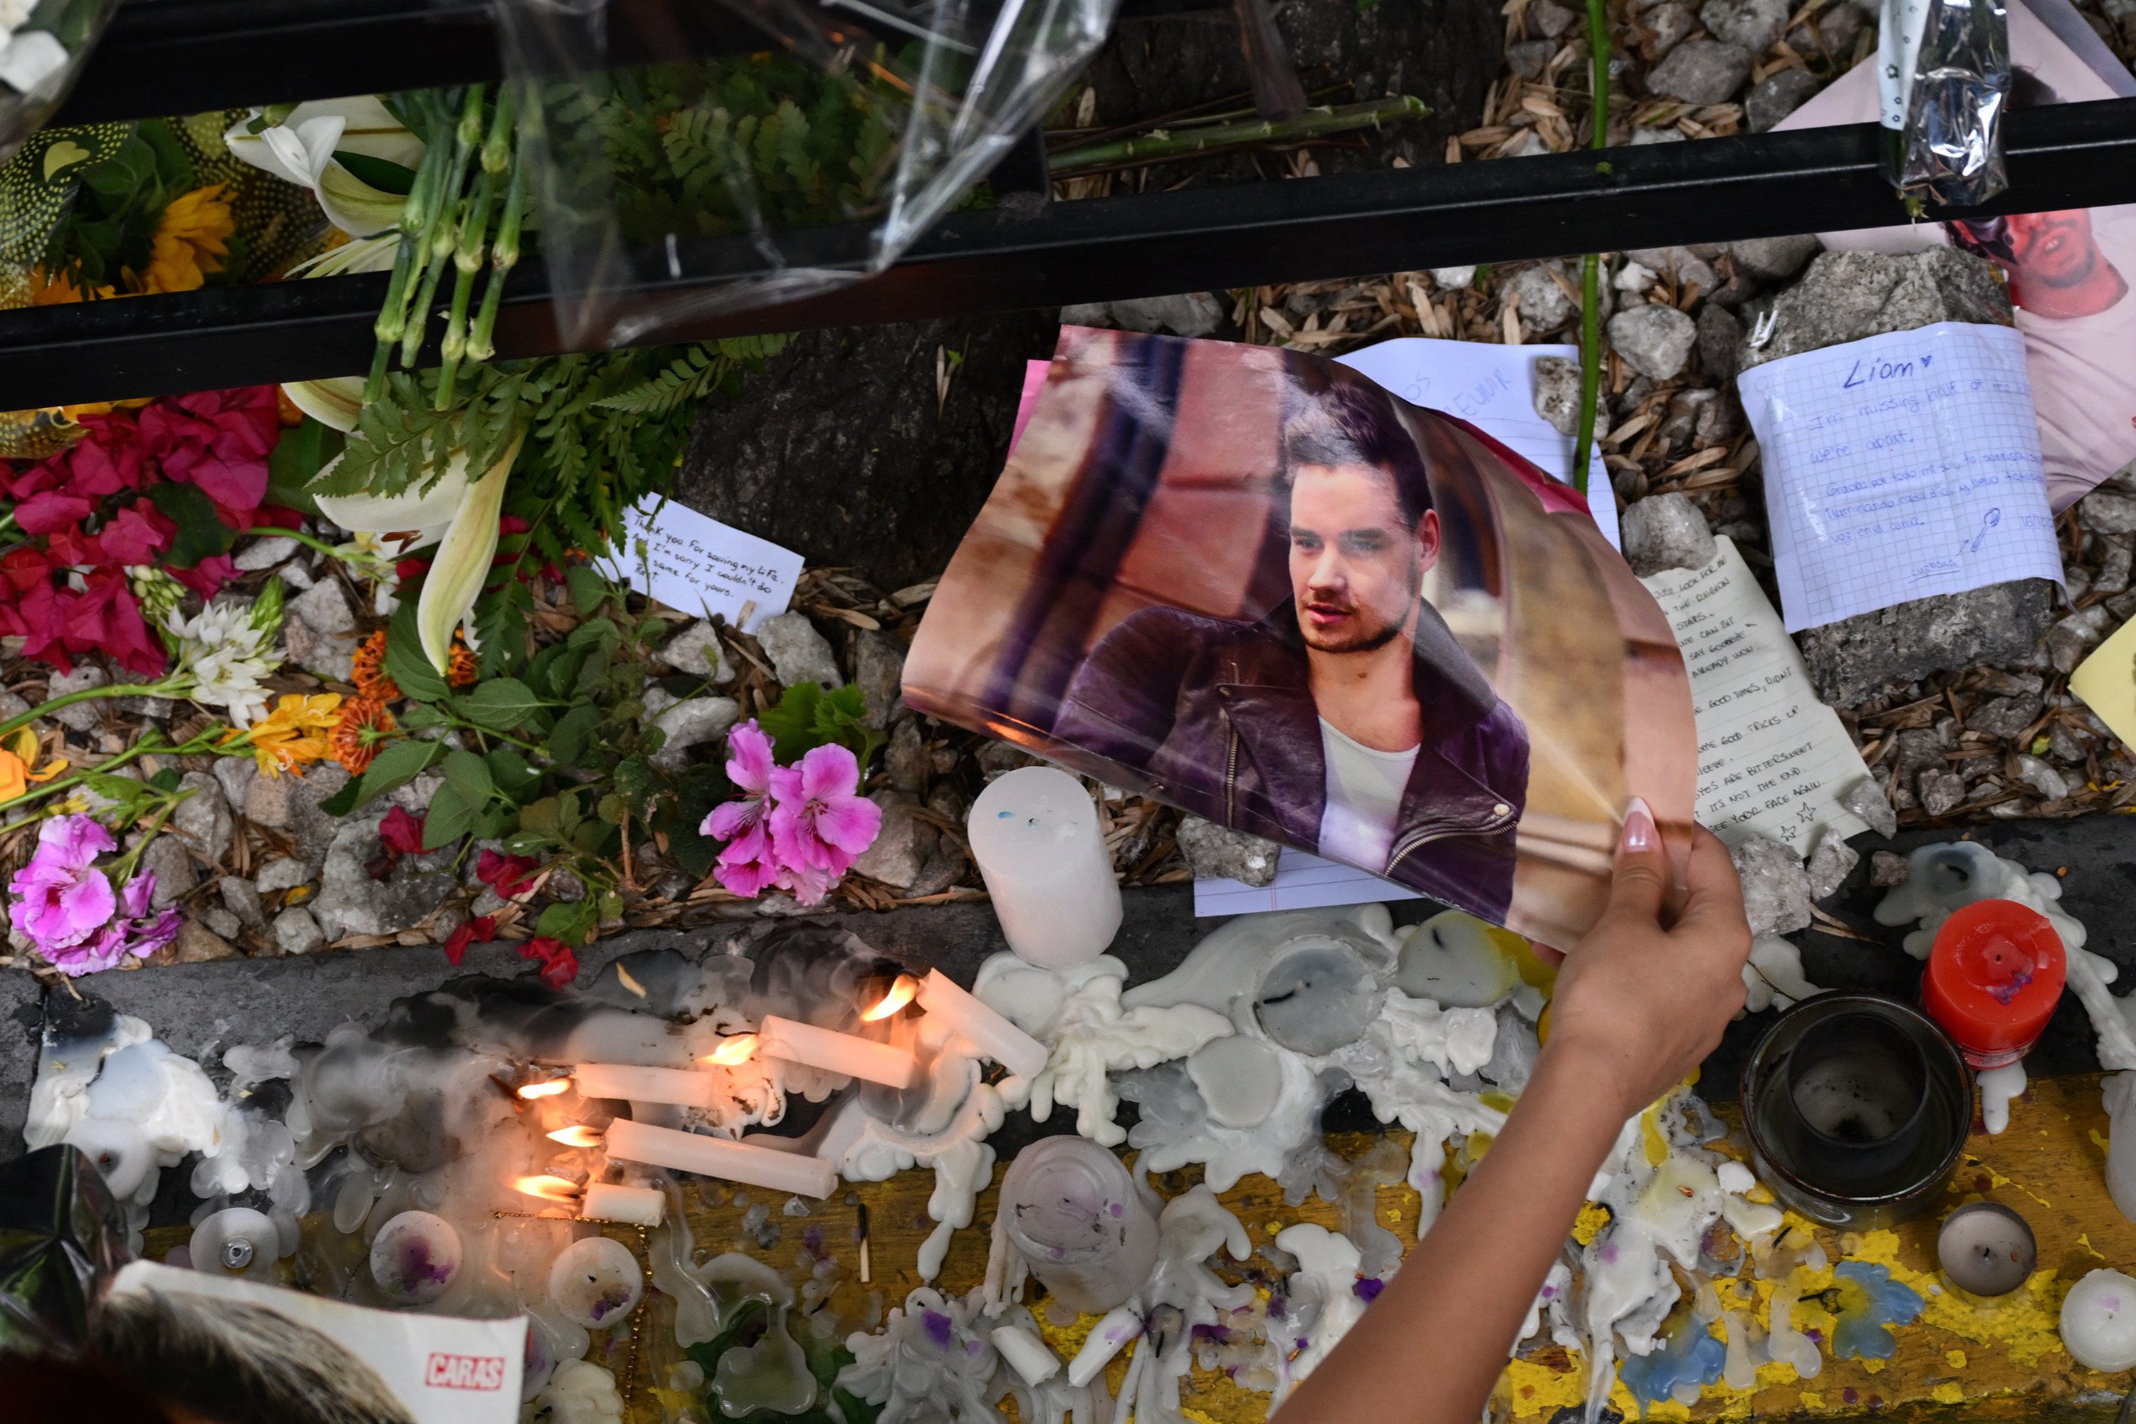
[[[980,179],[1115,9],[504,0],[566,342],[673,335],[889,267],[944,211],[991,201]]]

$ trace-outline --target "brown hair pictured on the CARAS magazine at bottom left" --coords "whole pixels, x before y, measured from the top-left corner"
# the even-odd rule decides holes
[[[414,1424],[346,1345],[241,1300],[107,1296],[90,1351],[156,1398],[220,1424]]]

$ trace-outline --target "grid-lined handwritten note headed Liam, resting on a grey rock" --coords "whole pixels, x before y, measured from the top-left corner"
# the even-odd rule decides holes
[[[1737,378],[1764,457],[1788,632],[2061,579],[2025,337],[1937,322]]]

